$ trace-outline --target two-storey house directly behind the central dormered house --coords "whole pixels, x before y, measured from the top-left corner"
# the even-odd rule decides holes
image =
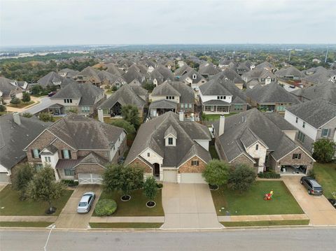
[[[186,117],[194,113],[195,95],[191,87],[181,82],[165,82],[155,87],[151,93],[149,111],[157,117],[168,111],[184,112]]]

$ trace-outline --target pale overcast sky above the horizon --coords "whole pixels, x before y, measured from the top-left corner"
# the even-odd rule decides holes
[[[0,45],[336,43],[335,0],[0,0]]]

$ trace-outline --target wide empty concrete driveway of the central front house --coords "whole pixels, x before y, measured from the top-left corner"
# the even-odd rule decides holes
[[[221,229],[214,201],[206,184],[164,183],[162,229]]]

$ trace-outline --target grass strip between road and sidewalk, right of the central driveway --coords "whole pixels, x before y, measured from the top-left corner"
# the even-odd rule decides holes
[[[309,220],[260,220],[254,222],[221,222],[224,227],[270,227],[270,226],[302,226]]]

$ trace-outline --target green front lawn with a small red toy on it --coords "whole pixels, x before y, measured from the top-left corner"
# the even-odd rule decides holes
[[[264,195],[273,189],[273,199],[264,201]],[[258,180],[242,194],[228,188],[211,191],[217,215],[283,215],[303,213],[299,204],[281,180]],[[221,209],[224,208],[224,209]],[[221,211],[220,211],[221,209]]]

